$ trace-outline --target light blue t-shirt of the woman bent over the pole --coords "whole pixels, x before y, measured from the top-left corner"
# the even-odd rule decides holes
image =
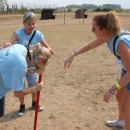
[[[24,88],[27,72],[26,47],[14,44],[0,50],[0,98],[8,91]]]

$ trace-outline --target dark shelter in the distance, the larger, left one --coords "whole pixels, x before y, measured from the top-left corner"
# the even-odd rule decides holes
[[[55,9],[44,9],[44,10],[42,10],[40,20],[55,19],[55,15],[53,15],[54,11],[55,11]]]

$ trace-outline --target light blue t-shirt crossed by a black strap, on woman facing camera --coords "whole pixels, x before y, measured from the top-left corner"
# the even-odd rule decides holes
[[[14,33],[18,36],[18,40],[15,43],[23,44],[25,46],[28,45],[28,42],[29,42],[31,36],[33,35],[33,32],[34,32],[34,30],[32,31],[31,34],[27,35],[24,32],[24,28],[20,28],[20,29],[16,30]],[[36,30],[36,33],[31,41],[30,45],[41,42],[43,38],[44,38],[43,34],[40,31]]]

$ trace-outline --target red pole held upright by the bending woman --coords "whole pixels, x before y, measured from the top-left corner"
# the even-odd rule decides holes
[[[42,81],[42,74],[39,75],[38,83]],[[40,91],[37,92],[37,101],[36,101],[36,108],[35,108],[35,118],[34,118],[34,130],[37,128],[37,117],[38,117],[38,106],[39,106],[39,98],[40,98]]]

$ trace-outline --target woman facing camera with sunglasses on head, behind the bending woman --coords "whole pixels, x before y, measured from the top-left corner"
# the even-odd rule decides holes
[[[16,44],[22,44],[26,46],[27,48],[29,48],[30,45],[40,42],[42,46],[48,48],[51,54],[54,55],[54,50],[51,49],[51,47],[47,44],[46,40],[44,39],[44,35],[40,31],[35,30],[36,16],[33,12],[26,12],[24,14],[23,25],[24,25],[24,28],[20,28],[13,33],[12,37],[5,44],[5,47],[8,47],[16,43]],[[28,87],[32,87],[35,84],[36,77],[37,77],[37,74],[30,74],[26,77],[27,82],[28,82]],[[36,106],[36,100],[37,100],[36,94],[37,93],[35,92],[32,93],[32,107],[33,108],[35,108]],[[19,98],[19,101],[20,101],[20,110],[19,110],[18,115],[23,116],[24,111],[25,111],[24,98]],[[38,110],[42,111],[43,107],[39,105]]]

